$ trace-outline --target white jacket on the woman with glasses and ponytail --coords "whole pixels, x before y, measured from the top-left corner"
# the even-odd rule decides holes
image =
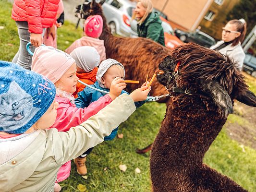
[[[218,41],[215,45],[211,46],[210,49],[218,48],[223,43],[224,43],[223,40]],[[236,46],[232,46],[232,43],[231,43],[226,47],[219,49],[219,52],[223,55],[229,56],[234,61],[237,61],[236,67],[238,68],[239,71],[242,71],[245,53],[240,42]]]

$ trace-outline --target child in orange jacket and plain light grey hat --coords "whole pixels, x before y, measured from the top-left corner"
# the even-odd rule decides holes
[[[76,76],[86,84],[94,84],[99,65],[99,54],[96,48],[82,46],[75,48],[70,55],[76,63]],[[78,82],[73,96],[76,98],[77,93],[83,91],[84,88],[85,85]]]

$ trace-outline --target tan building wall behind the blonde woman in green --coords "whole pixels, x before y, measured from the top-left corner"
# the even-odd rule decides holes
[[[213,0],[151,0],[153,6],[168,16],[172,27],[195,30]],[[165,8],[164,4],[167,2]],[[173,26],[173,24],[175,26]]]

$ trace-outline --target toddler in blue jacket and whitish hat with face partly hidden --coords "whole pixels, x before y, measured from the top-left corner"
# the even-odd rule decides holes
[[[100,63],[97,72],[97,82],[92,86],[103,90],[110,91],[110,84],[115,77],[119,77],[124,79],[124,67],[122,64],[113,59],[107,59]],[[126,91],[122,90],[121,94],[126,93]],[[75,99],[75,105],[77,108],[85,108],[90,103],[97,101],[101,96],[106,95],[105,93],[101,93],[92,88],[85,87],[82,92],[78,93],[78,97]],[[135,102],[136,108],[139,108],[145,103],[145,101]],[[104,138],[105,141],[112,140],[118,131],[118,127],[111,132],[111,134]],[[75,164],[77,166],[77,172],[80,175],[85,175],[87,173],[87,168],[85,166],[86,156],[92,151],[92,148],[86,151],[83,155],[77,157],[75,159]]]

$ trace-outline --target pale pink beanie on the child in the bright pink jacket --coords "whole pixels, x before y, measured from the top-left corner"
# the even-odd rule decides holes
[[[64,51],[53,47],[40,46],[32,57],[31,71],[46,76],[52,83],[61,79],[75,60]]]

